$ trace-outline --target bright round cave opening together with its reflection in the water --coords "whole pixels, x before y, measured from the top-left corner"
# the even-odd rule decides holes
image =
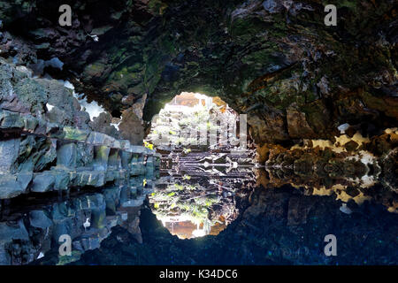
[[[217,235],[237,218],[237,195],[256,183],[255,144],[248,146],[245,122],[219,97],[188,92],[152,120],[145,142],[161,161],[149,203],[173,235]]]

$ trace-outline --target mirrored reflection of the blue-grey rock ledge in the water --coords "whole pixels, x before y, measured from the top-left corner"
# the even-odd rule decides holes
[[[131,187],[107,187],[92,193],[30,195],[6,203],[0,216],[0,264],[29,264],[52,253],[53,264],[78,260],[100,247],[114,226],[123,226],[142,242],[140,210],[148,193],[144,177]],[[72,238],[72,256],[59,256],[59,237]]]

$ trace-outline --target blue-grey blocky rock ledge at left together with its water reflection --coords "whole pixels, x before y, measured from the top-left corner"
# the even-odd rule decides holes
[[[65,264],[98,248],[117,225],[140,241],[155,151],[93,131],[57,80],[0,59],[0,86],[0,264],[28,264],[57,250],[66,234],[73,256],[55,263]]]

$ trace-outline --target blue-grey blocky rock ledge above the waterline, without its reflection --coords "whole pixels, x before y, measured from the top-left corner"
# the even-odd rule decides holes
[[[0,63],[0,199],[154,177],[153,150],[90,130],[63,84]]]

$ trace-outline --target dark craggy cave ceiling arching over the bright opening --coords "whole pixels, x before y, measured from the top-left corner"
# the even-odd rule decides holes
[[[343,123],[396,126],[393,0],[0,4],[3,57],[70,78],[112,116],[126,111],[127,128],[183,90],[247,113],[260,144],[331,139]],[[60,4],[71,5],[72,27],[58,25]],[[326,4],[337,27],[325,26]]]

